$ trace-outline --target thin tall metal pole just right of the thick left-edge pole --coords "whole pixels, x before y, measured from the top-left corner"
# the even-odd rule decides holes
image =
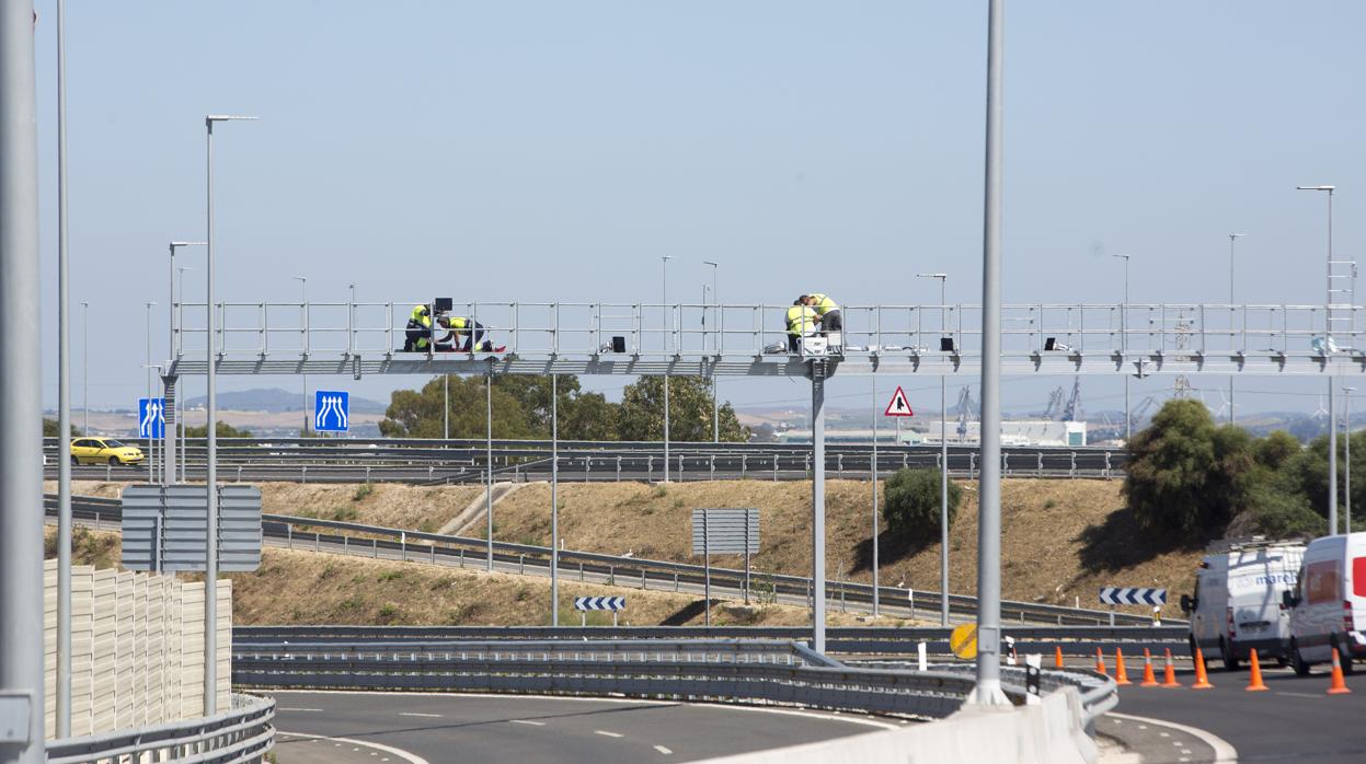
[[[57,0],[57,737],[71,737],[71,302],[67,251],[67,4]]]

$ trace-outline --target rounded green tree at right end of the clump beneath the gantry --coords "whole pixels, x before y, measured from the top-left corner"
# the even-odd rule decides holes
[[[669,439],[712,439],[712,387],[702,377],[669,378]],[[750,428],[740,424],[731,404],[720,408],[723,441],[744,442]],[[617,431],[623,441],[664,439],[664,379],[642,377],[622,392]]]

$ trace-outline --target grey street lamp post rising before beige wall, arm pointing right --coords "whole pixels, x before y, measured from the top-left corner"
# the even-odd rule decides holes
[[[214,353],[214,314],[213,314],[213,123],[255,120],[260,117],[243,117],[231,115],[209,115],[204,117],[205,127],[205,374],[206,387],[206,424],[205,443],[208,450],[208,475],[205,479],[205,494],[208,497],[208,521],[205,523],[205,570],[204,570],[204,715],[212,716],[217,712],[217,644],[219,644],[219,412],[217,412],[217,371],[219,363]]]

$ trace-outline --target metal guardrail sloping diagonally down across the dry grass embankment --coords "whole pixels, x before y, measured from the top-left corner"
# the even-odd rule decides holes
[[[109,523],[111,518],[119,517],[117,499],[72,497],[71,502],[72,514],[78,518],[98,518],[100,523]],[[49,514],[56,510],[56,497],[52,497],[51,494],[46,495],[44,503],[48,508]],[[352,531],[357,533],[366,533],[369,538],[295,531],[295,528],[310,527]],[[311,544],[313,548],[321,551],[324,550],[324,544],[331,544],[333,547],[340,546],[343,550],[354,550],[357,554],[369,551],[372,557],[378,557],[380,550],[385,550],[399,553],[399,559],[422,561],[425,558],[430,562],[437,561],[437,558],[447,562],[452,559],[463,561],[466,557],[473,561],[475,557],[482,558],[488,550],[488,542],[484,539],[423,533],[419,531],[404,531],[378,525],[365,525],[359,523],[318,520],[287,514],[264,514],[262,532],[266,538],[284,539],[285,544],[291,547],[298,544],[299,547],[307,548],[307,546]],[[523,570],[526,565],[531,565],[533,568],[549,568],[549,547],[494,540],[493,550],[496,562],[515,563]],[[616,557],[571,550],[560,551],[559,558],[561,576],[571,576],[574,573],[578,573],[579,577],[583,577],[585,574],[607,576],[609,585],[635,585],[637,583],[641,583],[642,588],[650,588],[649,585],[653,581],[656,584],[654,588],[657,589],[668,589],[671,587],[678,589],[679,585],[684,583],[701,584],[706,576],[706,569],[703,566],[683,562]],[[743,591],[743,587],[746,585],[746,573],[743,570],[712,568],[710,576],[712,585],[714,588],[728,587],[736,591]],[[759,588],[754,587],[754,583],[758,583],[764,589],[772,587],[772,593],[775,596],[788,595],[810,598],[811,593],[811,580],[805,576],[751,572],[749,574],[749,581],[751,593],[759,592]],[[872,603],[873,587],[872,584],[856,581],[828,581],[826,593],[832,602]],[[891,604],[907,602],[910,599],[908,595],[910,589],[878,587],[878,596],[884,603]],[[918,607],[934,611],[938,610],[938,592],[917,591],[915,598]],[[977,598],[951,593],[948,595],[948,600],[951,614],[973,614],[977,611]],[[1150,625],[1150,619],[1147,617],[1130,613],[1083,610],[1056,604],[1014,600],[1001,602],[1001,617],[1018,619],[1022,625],[1027,621],[1033,621],[1035,623],[1049,622],[1056,625]],[[1169,623],[1179,625],[1182,622],[1169,621]]]

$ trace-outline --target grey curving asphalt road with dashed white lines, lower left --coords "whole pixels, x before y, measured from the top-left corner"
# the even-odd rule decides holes
[[[280,745],[276,749],[280,764],[326,761],[332,752],[354,760],[413,764],[691,761],[896,726],[831,714],[668,701],[430,693],[272,694],[281,735],[333,738]],[[347,742],[339,745],[336,738]]]

